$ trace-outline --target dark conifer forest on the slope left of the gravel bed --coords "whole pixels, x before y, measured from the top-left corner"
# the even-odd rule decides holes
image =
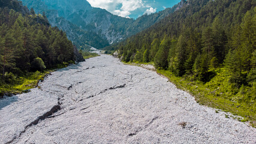
[[[21,4],[0,1],[0,95],[35,71],[38,74],[75,61],[72,41],[65,32],[51,27],[44,13],[35,14]]]

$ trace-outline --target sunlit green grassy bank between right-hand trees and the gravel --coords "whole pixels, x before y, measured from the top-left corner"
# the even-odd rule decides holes
[[[217,75],[207,83],[192,81],[184,77],[176,77],[170,71],[157,70],[157,73],[168,77],[177,88],[183,89],[194,95],[195,100],[205,106],[221,109],[233,115],[242,116],[243,122],[249,121],[254,127],[256,123],[256,104],[254,98],[245,98],[241,95],[241,89],[234,88],[228,82],[228,74],[224,68],[215,70]],[[247,88],[248,95],[254,94],[253,88]],[[246,94],[244,94],[246,95]]]

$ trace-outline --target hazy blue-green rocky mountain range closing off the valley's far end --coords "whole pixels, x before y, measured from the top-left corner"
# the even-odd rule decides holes
[[[143,15],[134,20],[91,7],[85,0],[22,0],[22,2],[29,8],[34,8],[37,13],[45,12],[51,25],[67,32],[67,36],[76,46],[83,47],[88,44],[98,49],[148,28],[178,7]]]

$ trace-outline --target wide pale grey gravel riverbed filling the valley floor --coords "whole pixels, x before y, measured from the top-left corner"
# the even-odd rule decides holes
[[[0,143],[256,143],[256,129],[102,55],[0,100]]]

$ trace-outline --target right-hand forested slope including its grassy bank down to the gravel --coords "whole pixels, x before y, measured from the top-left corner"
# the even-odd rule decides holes
[[[153,62],[199,103],[208,98],[203,104],[255,122],[255,5],[254,0],[183,1],[180,10],[108,49],[118,50],[124,62]]]

